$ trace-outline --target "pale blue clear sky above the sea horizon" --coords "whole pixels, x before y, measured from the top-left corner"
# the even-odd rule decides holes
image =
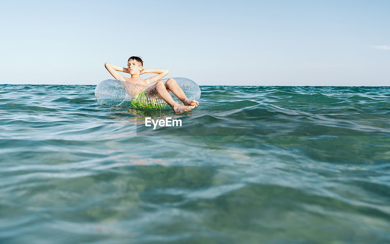
[[[390,86],[389,13],[389,0],[4,1],[0,84],[96,85],[106,62],[141,56],[200,86]]]

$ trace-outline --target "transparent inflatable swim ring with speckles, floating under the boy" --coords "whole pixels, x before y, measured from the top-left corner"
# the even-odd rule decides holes
[[[194,81],[182,77],[173,79],[181,87],[188,99],[199,100],[200,88]],[[167,80],[163,79],[161,81],[165,82]],[[172,91],[169,91],[169,93],[175,102],[183,104]],[[126,81],[102,81],[95,88],[95,97],[97,102],[108,106],[129,107],[133,109],[171,109],[153,88]]]

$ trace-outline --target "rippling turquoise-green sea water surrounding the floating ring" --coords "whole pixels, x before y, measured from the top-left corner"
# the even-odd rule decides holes
[[[1,243],[390,242],[389,87],[202,86],[178,116],[94,88],[0,85]]]

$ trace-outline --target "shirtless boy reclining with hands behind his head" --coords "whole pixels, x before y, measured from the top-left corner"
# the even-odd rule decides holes
[[[105,67],[110,72],[110,74],[119,81],[126,81],[127,84],[124,84],[126,91],[129,95],[137,98],[137,101],[145,101],[146,97],[151,97],[152,90],[155,89],[157,93],[167,102],[168,105],[172,107],[176,114],[181,114],[183,112],[188,112],[194,107],[197,107],[199,103],[196,100],[189,100],[181,90],[180,86],[177,85],[176,81],[172,78],[169,78],[165,83],[160,81],[165,75],[168,74],[169,70],[162,68],[143,68],[144,62],[141,58],[132,56],[128,60],[127,68],[122,68],[117,65],[110,63],[105,63]],[[118,71],[129,73],[131,78],[123,77],[118,73]],[[140,75],[145,73],[154,73],[153,77],[148,79],[141,79]],[[145,89],[143,86],[149,86],[149,84],[158,81],[156,84],[150,86],[150,88]],[[141,85],[141,86],[139,86]],[[177,98],[179,98],[184,105],[180,105],[175,102],[168,91],[172,91]],[[139,99],[141,98],[141,99]]]

